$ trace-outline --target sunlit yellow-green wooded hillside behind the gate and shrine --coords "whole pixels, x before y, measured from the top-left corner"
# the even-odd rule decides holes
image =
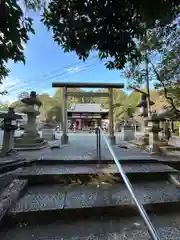
[[[68,91],[73,92],[85,92],[82,89],[69,89]],[[97,90],[96,92],[106,92],[107,89]],[[126,94],[124,91],[119,89],[114,89],[114,118],[116,121],[121,121],[127,117],[127,109],[131,106],[134,118],[139,120],[139,108],[136,105],[140,100],[140,93],[133,91],[131,94]],[[54,96],[48,94],[39,94],[38,98],[42,101],[42,107],[40,109],[40,118],[42,120],[51,120],[55,118],[58,122],[62,121],[62,88],[59,88]],[[155,102],[153,110],[157,112],[167,105],[167,101],[161,95],[159,90],[151,90],[151,99]],[[68,107],[73,103],[99,103],[102,104],[104,108],[108,108],[108,98],[107,97],[68,97]],[[16,111],[21,111],[22,103],[17,100],[11,104]]]

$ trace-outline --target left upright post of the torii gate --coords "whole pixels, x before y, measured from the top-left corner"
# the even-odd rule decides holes
[[[62,104],[63,134],[61,137],[62,144],[68,144],[67,135],[67,87],[63,87],[63,104]]]

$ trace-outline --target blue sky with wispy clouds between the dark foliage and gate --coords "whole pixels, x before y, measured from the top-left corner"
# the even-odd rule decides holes
[[[21,92],[30,90],[53,95],[53,81],[126,82],[119,71],[107,70],[95,53],[85,63],[75,53],[64,53],[40,22],[40,14],[33,13],[32,17],[36,34],[25,46],[26,64],[9,62],[11,72],[1,86],[9,94],[1,99],[3,102],[10,103]]]

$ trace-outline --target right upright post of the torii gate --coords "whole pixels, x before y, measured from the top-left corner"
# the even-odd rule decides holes
[[[109,88],[109,141],[110,144],[116,144],[114,136],[114,119],[113,119],[113,89]]]

